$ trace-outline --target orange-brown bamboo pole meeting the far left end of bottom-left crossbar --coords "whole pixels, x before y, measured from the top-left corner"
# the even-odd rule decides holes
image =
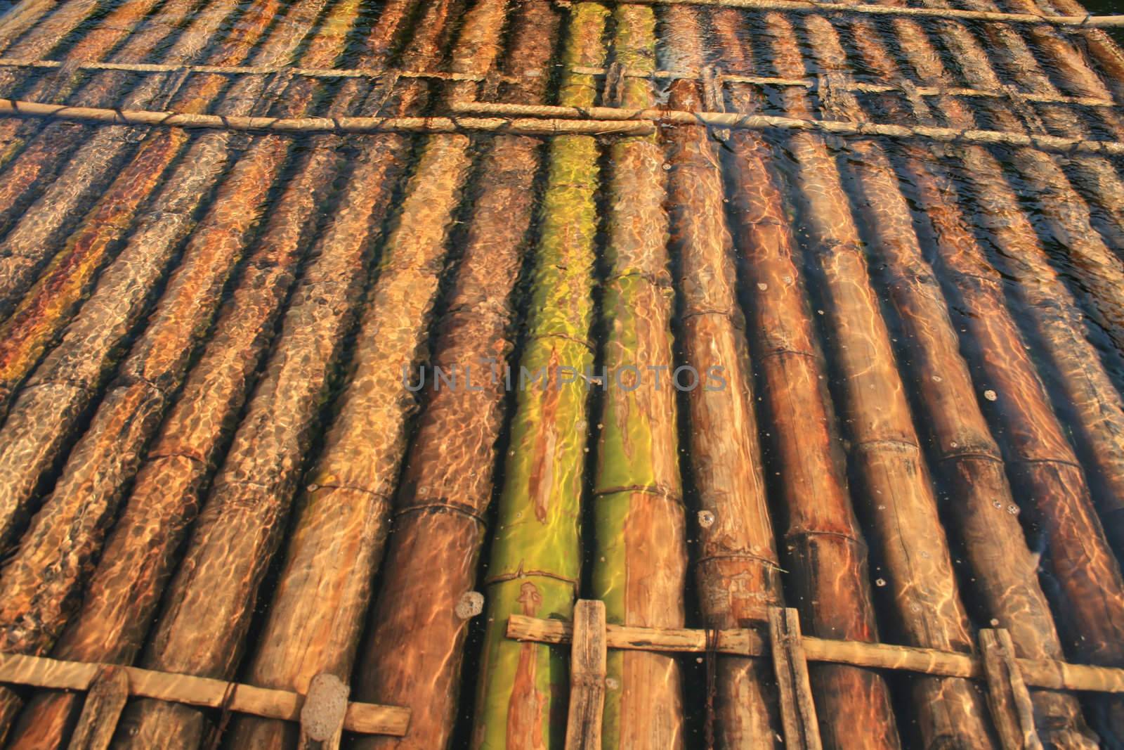
[[[344,43],[330,25],[350,26],[356,12],[353,3],[335,6],[326,21],[335,46],[324,49],[314,44],[309,46],[311,54],[323,49],[330,63]],[[310,96],[309,90],[306,99]],[[207,152],[198,145],[188,157],[196,156],[191,166],[202,170],[200,161]],[[239,160],[219,187],[211,209],[189,240],[182,263],[149,316],[146,331],[70,453],[51,497],[20,540],[19,549],[0,570],[0,650],[44,653],[76,604],[81,579],[100,551],[124,486],[182,383],[188,362],[221,299],[223,287],[246,245],[246,235],[264,209],[272,184],[266,170],[279,171],[288,151],[285,143],[272,145],[272,151],[254,150]],[[144,251],[155,252],[153,243],[146,243]],[[248,279],[251,283],[257,280],[253,274]],[[83,344],[90,341],[85,338]],[[115,350],[116,342],[107,349]],[[107,356],[98,349],[84,353],[88,360]]]

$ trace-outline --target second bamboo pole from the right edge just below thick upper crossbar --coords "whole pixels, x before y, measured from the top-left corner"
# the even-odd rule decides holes
[[[973,83],[998,82],[988,57],[981,46],[966,29],[957,26],[937,26],[949,46],[955,51],[958,64],[963,74]],[[1007,42],[1010,42],[1007,39]],[[1028,53],[1019,55],[1019,65],[1027,64]],[[1017,118],[996,102],[987,108],[1004,124],[1004,127],[1019,128]],[[1037,193],[1036,204],[1042,211],[1046,229],[1067,250],[1072,273],[1091,297],[1090,313],[1105,329],[1117,349],[1124,351],[1124,302],[1120,299],[1120,288],[1124,284],[1124,261],[1114,254],[1100,235],[1093,228],[1088,206],[1072,189],[1064,172],[1048,155],[1025,148],[1012,152],[1012,161],[1019,174]],[[1112,179],[1103,179],[1111,174]],[[1115,172],[1097,179],[1109,192],[1118,193],[1124,188],[1113,188],[1117,183]],[[1111,200],[1111,199],[1107,199]],[[1117,204],[1120,201],[1116,201]]]

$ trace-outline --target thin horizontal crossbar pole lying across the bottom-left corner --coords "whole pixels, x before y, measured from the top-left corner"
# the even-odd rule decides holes
[[[63,690],[85,690],[102,665],[61,661],[21,653],[0,653],[0,683],[15,683]],[[301,696],[253,685],[238,685],[224,706],[229,683],[192,675],[173,675],[138,667],[120,667],[129,679],[129,695],[185,703],[209,708],[225,707],[243,714],[285,721],[300,720]],[[406,737],[410,710],[373,703],[350,703],[344,729],[360,734]]]

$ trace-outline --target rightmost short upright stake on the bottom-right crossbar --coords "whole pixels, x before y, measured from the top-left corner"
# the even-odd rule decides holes
[[[980,652],[987,676],[988,704],[1004,750],[1042,750],[1034,729],[1034,706],[1015,660],[1015,644],[1006,629],[981,630]]]

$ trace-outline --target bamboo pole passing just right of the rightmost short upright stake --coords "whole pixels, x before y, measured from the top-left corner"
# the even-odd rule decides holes
[[[828,75],[846,75],[846,58],[835,30],[818,19],[809,19],[807,26],[821,70]],[[870,49],[871,56],[881,56],[872,66],[880,73],[896,73],[887,64],[885,51],[876,48],[877,29],[862,20],[853,26],[856,44]],[[864,62],[871,64],[869,58]],[[821,108],[827,116],[855,119],[864,116],[859,102],[839,90],[832,96],[823,96]],[[892,109],[896,118],[905,117],[900,108]],[[847,145],[853,155],[845,163],[858,178],[861,201],[879,207],[868,220],[870,234],[874,236],[869,247],[882,269],[879,275],[888,288],[905,333],[903,341],[907,343],[907,354],[904,360],[909,363],[912,380],[917,385],[922,417],[933,436],[936,466],[952,497],[957,498],[950,506],[950,517],[955,524],[955,535],[966,546],[973,588],[992,624],[1012,629],[1023,656],[1059,659],[1061,642],[1039,586],[1037,559],[1026,545],[999,448],[978,406],[986,400],[978,398],[960,356],[957,332],[933,271],[924,261],[913,234],[909,208],[899,192],[894,166],[877,143]],[[975,238],[959,207],[943,189],[946,186],[930,171],[932,155],[916,145],[906,146],[903,152],[908,178],[901,187],[912,187],[912,197],[919,198],[927,220],[942,227],[937,242],[951,243],[952,252],[973,246]],[[987,320],[985,326],[995,329],[991,320],[1005,315],[1005,307],[1000,300],[990,301],[992,305],[998,301],[998,308],[973,308],[971,315]],[[1024,351],[1017,335],[1008,345],[1017,346],[1019,353]],[[996,351],[1004,358],[1018,356],[1009,354],[1008,349]],[[1008,398],[1006,388],[999,392]],[[1044,737],[1057,747],[1093,747],[1094,739],[1088,734],[1075,698],[1048,693],[1039,693],[1035,698]]]

